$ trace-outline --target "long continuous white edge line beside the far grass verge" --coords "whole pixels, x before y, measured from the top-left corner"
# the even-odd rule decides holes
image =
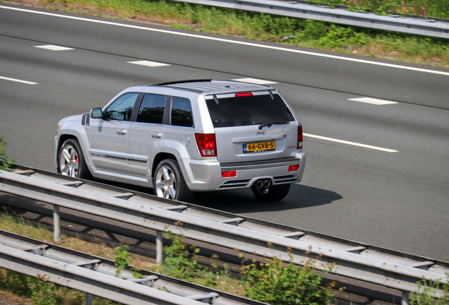
[[[37,14],[41,14],[41,15],[46,15],[46,16],[53,16],[53,17],[59,17],[59,18],[67,18],[67,19],[73,19],[73,20],[81,20],[81,21],[88,21],[91,23],[102,23],[102,24],[106,24],[106,25],[115,25],[115,26],[120,26],[120,27],[124,27],[124,28],[134,28],[134,29],[138,29],[138,30],[149,30],[149,31],[153,31],[153,32],[164,32],[167,34],[173,34],[173,35],[181,35],[181,36],[187,36],[187,37],[195,37],[195,38],[201,38],[201,39],[205,39],[205,40],[215,40],[215,41],[220,41],[220,42],[228,42],[228,43],[233,43],[233,44],[244,44],[247,46],[251,46],[251,47],[261,47],[261,48],[265,48],[265,49],[275,49],[278,51],[285,51],[285,52],[292,52],[292,53],[298,53],[298,54],[307,54],[307,55],[313,55],[313,56],[321,56],[321,57],[328,57],[331,59],[340,59],[340,60],[345,60],[345,61],[354,61],[354,62],[359,62],[361,64],[373,64],[376,66],[386,66],[386,67],[390,67],[390,68],[402,68],[405,70],[412,70],[412,71],[419,71],[419,72],[425,72],[425,73],[434,73],[434,74],[441,74],[443,76],[449,76],[449,72],[443,72],[443,71],[433,71],[433,70],[429,70],[429,69],[425,69],[425,68],[414,68],[414,67],[409,67],[409,66],[400,66],[397,64],[386,64],[386,63],[381,63],[381,62],[376,62],[376,61],[369,61],[366,59],[354,59],[354,58],[349,58],[349,57],[343,57],[343,56],[337,56],[337,55],[330,55],[330,54],[321,54],[321,53],[314,53],[314,52],[308,52],[308,51],[301,51],[298,49],[287,49],[285,47],[275,47],[275,46],[269,46],[269,45],[265,45],[265,44],[256,44],[256,43],[251,43],[251,42],[240,42],[240,41],[236,41],[236,40],[228,40],[228,39],[223,39],[223,38],[218,38],[218,37],[207,37],[207,36],[201,36],[201,35],[196,35],[196,34],[189,34],[189,33],[185,33],[185,32],[172,32],[169,30],[161,30],[161,29],[155,29],[155,28],[145,28],[143,26],[138,26],[138,25],[127,25],[127,24],[121,24],[121,23],[113,23],[111,21],[104,21],[104,20],[95,20],[95,19],[88,19],[88,18],[81,18],[81,17],[76,17],[76,16],[66,16],[66,15],[60,15],[60,14],[56,14],[56,13],[48,13],[48,12],[42,12],[42,11],[31,11],[25,8],[13,8],[13,7],[9,7],[9,6],[0,6],[0,8],[6,8],[9,10],[13,10],[13,11],[23,11],[26,13],[37,13]]]

